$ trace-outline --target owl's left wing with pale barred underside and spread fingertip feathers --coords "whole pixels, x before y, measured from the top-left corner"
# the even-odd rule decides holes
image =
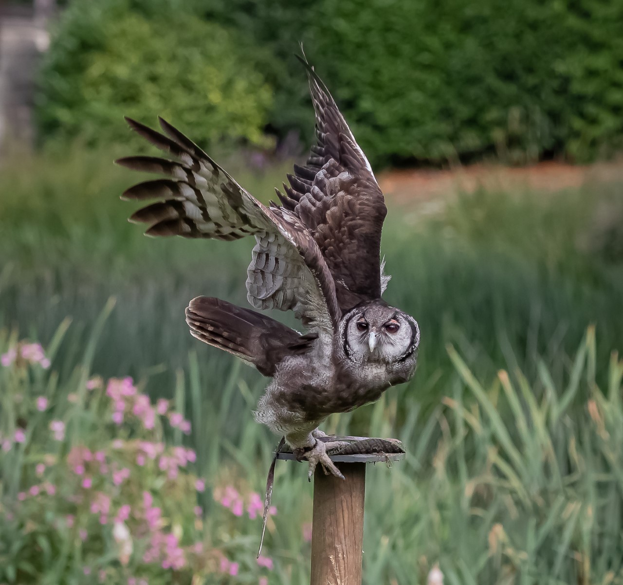
[[[122,199],[157,199],[130,217],[148,235],[234,240],[254,235],[247,298],[255,308],[293,310],[310,327],[333,332],[341,318],[335,284],[320,248],[287,209],[262,205],[168,122],[161,134],[126,118],[131,128],[177,161],[129,156],[117,163],[168,176],[127,189]],[[166,136],[165,136],[166,135]]]

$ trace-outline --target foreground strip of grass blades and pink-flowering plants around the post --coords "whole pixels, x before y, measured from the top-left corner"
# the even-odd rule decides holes
[[[0,576],[7,583],[92,583],[98,577],[111,584],[132,578],[137,585],[140,579],[188,583],[191,575],[193,583],[257,583],[272,570],[270,583],[307,582],[312,486],[302,465],[277,465],[278,513],[264,545],[274,568],[255,563],[257,492],[276,437],[253,420],[257,392],[240,379],[240,364],[215,392],[191,353],[178,374],[174,406],[164,405],[168,421],[158,416],[150,429],[145,412],[135,414],[146,402],[130,381],[104,387],[89,378],[102,324],[69,375],[59,369],[57,351],[69,323],[45,355],[0,331]],[[16,352],[7,360],[11,348]],[[477,378],[459,352],[448,351],[454,373],[430,414],[418,396],[404,400],[395,391],[369,407],[368,434],[399,437],[407,455],[391,469],[368,470],[364,583],[423,584],[439,563],[445,581],[457,585],[621,585],[623,362],[616,352],[609,365],[601,363],[589,328],[574,356],[554,369],[537,359],[533,374],[511,365]],[[123,395],[121,407],[115,392]],[[184,407],[193,429],[181,447],[180,430],[173,436],[166,431]],[[124,420],[117,425],[112,413],[120,408]],[[397,416],[401,411],[406,417]],[[352,423],[353,413],[331,416],[325,430],[350,434]],[[129,476],[115,481],[115,472],[125,469]],[[206,492],[195,470],[207,479]],[[102,523],[99,508],[108,498]],[[197,502],[207,513],[203,520]],[[125,505],[130,516],[121,520]],[[160,518],[153,528],[145,526],[148,510]],[[162,556],[145,561],[154,532],[166,538]],[[161,566],[167,548],[183,551],[182,568]],[[227,581],[232,571],[238,574]]]

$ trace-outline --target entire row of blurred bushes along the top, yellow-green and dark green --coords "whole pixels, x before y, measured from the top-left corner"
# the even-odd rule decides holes
[[[595,0],[74,0],[40,129],[118,141],[122,113],[160,114],[204,143],[307,141],[304,42],[377,164],[586,161],[623,145],[622,29],[623,4]]]

